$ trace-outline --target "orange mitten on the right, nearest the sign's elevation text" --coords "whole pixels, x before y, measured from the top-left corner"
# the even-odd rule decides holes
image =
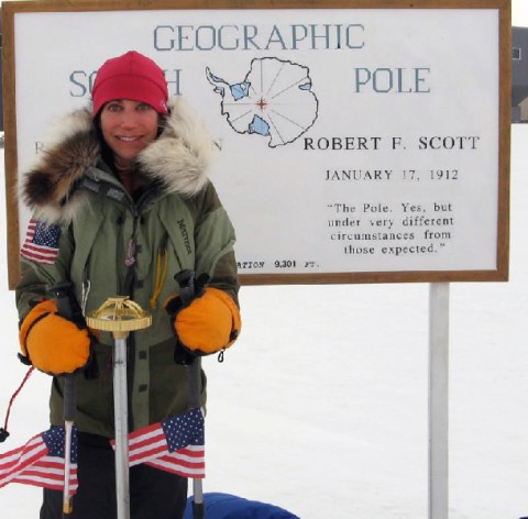
[[[169,313],[178,299],[173,298],[165,305]],[[207,355],[229,347],[239,336],[240,329],[237,303],[223,290],[212,287],[207,287],[188,307],[178,309],[174,318],[179,343],[195,354]]]

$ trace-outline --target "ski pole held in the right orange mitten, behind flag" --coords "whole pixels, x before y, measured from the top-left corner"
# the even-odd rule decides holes
[[[174,276],[179,285],[179,297],[183,308],[188,307],[196,297],[195,290],[195,273],[186,269]],[[189,407],[201,408],[201,358],[196,356],[194,361],[187,365],[187,374],[189,378]],[[204,485],[201,478],[193,478],[193,518],[204,519],[206,508],[204,503]]]

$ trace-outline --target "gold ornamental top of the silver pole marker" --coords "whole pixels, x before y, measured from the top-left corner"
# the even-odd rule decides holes
[[[152,316],[127,296],[108,298],[86,322],[95,330],[112,332],[116,339],[125,339],[129,332],[152,324]]]

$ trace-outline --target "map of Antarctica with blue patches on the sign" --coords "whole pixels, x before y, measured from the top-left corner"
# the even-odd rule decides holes
[[[237,133],[268,137],[268,146],[290,144],[315,122],[319,101],[308,67],[276,57],[255,58],[244,80],[230,84],[208,67],[207,79],[222,98],[222,115]]]

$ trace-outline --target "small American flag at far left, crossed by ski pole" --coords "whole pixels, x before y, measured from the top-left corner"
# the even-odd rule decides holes
[[[0,455],[0,488],[22,483],[62,490],[64,487],[64,427],[33,437],[25,445]],[[69,488],[77,490],[77,434],[72,434]]]

